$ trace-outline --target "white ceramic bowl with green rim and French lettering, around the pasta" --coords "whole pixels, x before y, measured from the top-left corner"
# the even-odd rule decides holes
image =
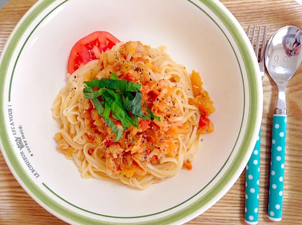
[[[201,73],[217,110],[215,132],[204,136],[191,171],[133,190],[82,179],[57,151],[51,104],[66,85],[71,47],[97,30],[166,45],[172,59]],[[1,150],[27,193],[66,222],[182,224],[218,201],[249,159],[262,115],[258,70],[243,29],[217,0],[40,0],[1,56]]]

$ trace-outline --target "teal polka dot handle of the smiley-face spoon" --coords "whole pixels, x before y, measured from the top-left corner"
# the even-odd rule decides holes
[[[267,213],[268,218],[273,221],[280,221],[282,218],[286,124],[287,115],[275,114],[273,116],[271,175]]]

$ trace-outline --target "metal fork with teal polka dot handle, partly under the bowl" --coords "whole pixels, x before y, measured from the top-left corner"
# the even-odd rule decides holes
[[[249,26],[246,35],[249,38],[251,27]],[[262,40],[262,47],[260,53],[260,61],[258,61],[261,79],[264,77],[264,51],[266,46],[266,26],[264,27],[264,34]],[[256,26],[254,26],[251,44],[254,48],[254,37],[256,32]],[[261,26],[259,26],[256,46],[254,48],[257,60],[259,54],[259,42],[260,42]],[[260,129],[261,131],[261,129]],[[258,223],[258,208],[259,208],[259,177],[260,177],[260,132],[258,140],[255,144],[254,151],[246,165],[246,183],[245,183],[245,215],[244,220],[248,224]]]

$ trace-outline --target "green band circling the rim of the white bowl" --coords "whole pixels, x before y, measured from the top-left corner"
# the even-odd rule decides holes
[[[2,56],[3,59],[0,64],[0,89],[2,90],[2,92],[0,93],[0,105],[4,104],[4,84],[5,84],[5,79],[6,79],[7,72],[8,72],[8,67],[9,67],[10,61],[12,59],[13,53],[14,53],[21,37],[24,35],[25,31],[28,29],[28,27],[31,25],[31,23],[37,18],[37,16],[40,15],[46,8],[48,8],[55,1],[56,0],[41,0],[35,6],[35,8],[33,8],[33,10],[26,15],[24,20],[20,24],[18,24],[18,28],[15,30],[14,35],[10,38],[9,43],[6,46],[6,50],[4,51],[4,55]],[[41,22],[50,13],[52,13],[53,10],[55,10],[56,8],[58,8],[60,5],[64,4],[67,1],[69,1],[69,0],[65,0],[62,3],[60,3],[58,6],[53,8],[37,24],[37,26],[39,24],[41,24]],[[195,5],[197,8],[199,8],[205,14],[207,14],[203,9],[201,9],[197,4],[193,3],[191,0],[187,0],[187,1],[192,3],[193,5]],[[245,70],[247,72],[247,77],[248,77],[248,81],[249,81],[249,99],[250,99],[250,101],[249,101],[249,115],[248,115],[248,122],[247,122],[248,129],[245,130],[243,142],[241,143],[241,145],[239,147],[238,153],[236,154],[233,162],[231,163],[230,167],[227,169],[225,174],[221,177],[221,179],[204,196],[200,197],[198,200],[196,200],[191,205],[189,205],[173,214],[170,214],[168,216],[150,220],[148,222],[112,223],[112,222],[105,222],[105,221],[100,221],[97,219],[92,219],[92,218],[89,218],[86,216],[82,216],[76,212],[72,212],[71,210],[65,208],[64,206],[62,206],[59,203],[57,203],[56,201],[54,201],[45,192],[43,192],[43,190],[41,190],[28,176],[26,171],[21,166],[16,154],[14,153],[13,147],[9,141],[8,131],[6,130],[6,127],[5,127],[6,123],[5,123],[5,118],[4,118],[4,109],[3,109],[3,107],[1,107],[0,124],[2,124],[4,126],[0,127],[0,139],[1,139],[1,142],[3,145],[2,151],[3,151],[3,153],[5,153],[3,155],[4,155],[4,157],[5,156],[7,157],[6,161],[7,161],[8,165],[10,166],[10,169],[12,171],[14,171],[16,179],[18,179],[18,181],[20,181],[20,183],[22,184],[22,186],[24,188],[26,187],[26,189],[29,190],[29,192],[30,192],[29,194],[33,198],[36,198],[37,200],[41,201],[42,204],[44,204],[46,207],[48,207],[51,211],[57,213],[60,217],[64,217],[70,221],[80,223],[80,224],[137,224],[137,225],[138,224],[139,225],[141,225],[141,224],[154,224],[155,225],[156,224],[156,225],[159,225],[159,224],[168,224],[168,223],[177,222],[181,219],[189,217],[191,214],[199,211],[202,207],[204,207],[206,204],[208,204],[212,199],[214,199],[216,196],[218,196],[219,193],[221,193],[221,190],[224,189],[226,187],[226,185],[229,184],[230,180],[237,173],[244,158],[246,157],[247,149],[249,148],[249,145],[253,138],[253,134],[256,131],[255,121],[257,120],[258,99],[259,99],[257,77],[256,77],[257,74],[256,74],[256,69],[255,69],[253,63],[250,63],[251,61],[253,61],[252,55],[251,55],[248,47],[246,46],[246,42],[244,41],[242,35],[238,31],[238,28],[236,27],[236,25],[234,24],[232,19],[230,19],[228,17],[228,15],[226,14],[226,12],[224,12],[214,1],[212,1],[212,0],[200,0],[200,1],[205,6],[207,6],[223,22],[223,24],[226,26],[226,28],[232,35],[233,39],[235,40],[235,42],[238,46],[240,53],[241,53],[241,57],[243,59]],[[208,16],[210,17],[210,15],[208,15]],[[210,17],[210,19],[212,19],[212,18]],[[219,25],[214,21],[214,19],[212,19],[212,20],[219,27]],[[35,29],[36,29],[36,27],[35,27]],[[33,29],[31,34],[34,32],[35,29]],[[223,32],[222,29],[221,29],[221,31]],[[226,36],[226,34],[224,32],[223,32],[223,34]],[[30,35],[29,35],[29,37],[30,37]],[[25,43],[27,42],[29,37],[26,39]],[[227,38],[227,36],[226,36],[226,38]],[[229,41],[229,43],[231,45],[230,41]],[[23,45],[23,47],[24,47],[24,45]],[[23,47],[21,48],[21,51],[22,51]],[[232,46],[232,48],[233,48],[233,46]],[[16,63],[21,54],[21,51],[15,62],[14,69],[16,67]],[[233,51],[234,51],[234,48],[233,48]],[[235,53],[235,51],[234,51],[234,53]],[[235,55],[236,55],[236,53],[235,53]],[[237,58],[237,60],[238,60],[238,58]],[[14,73],[14,69],[13,69],[13,73]],[[241,70],[241,68],[240,68],[240,70]],[[9,101],[10,101],[10,90],[11,90],[12,79],[13,79],[13,76],[11,77],[10,85],[9,85]],[[243,114],[244,114],[244,112],[243,112]],[[240,132],[239,132],[239,134],[240,134]],[[231,155],[232,155],[232,153],[230,154],[230,156]],[[230,158],[230,156],[229,156],[229,158]],[[227,161],[228,161],[228,159],[227,159]],[[220,169],[220,171],[223,169],[223,167]],[[218,172],[218,174],[220,173],[220,171]],[[43,183],[43,185],[48,190],[50,190],[44,183]],[[197,194],[199,194],[202,190],[200,190]],[[52,190],[50,190],[50,191],[54,195],[56,195]],[[195,194],[194,196],[196,196],[197,194]],[[192,199],[194,196],[192,196],[190,199]],[[190,200],[190,199],[188,199],[188,200]],[[65,201],[64,199],[62,199],[62,200]],[[186,200],[186,201],[188,201],[188,200]],[[67,201],[65,201],[65,202],[67,202]],[[67,203],[69,203],[69,202],[67,202]],[[184,202],[182,202],[181,204],[183,204],[183,203]],[[179,205],[181,205],[181,204],[179,204]],[[70,205],[72,205],[72,204],[70,204]],[[177,206],[179,206],[179,205],[177,205]],[[172,208],[176,208],[177,206],[174,206]],[[77,206],[75,206],[75,207],[77,207]],[[168,210],[171,210],[171,209],[168,209]],[[163,212],[166,212],[168,210],[165,210]],[[159,213],[162,213],[162,212],[159,212]],[[155,213],[155,214],[158,214],[158,213]],[[152,214],[152,215],[154,215],[154,214]],[[151,216],[151,215],[147,215],[147,216]],[[128,217],[128,218],[131,218],[131,217]],[[135,217],[132,217],[132,218],[135,218]]]

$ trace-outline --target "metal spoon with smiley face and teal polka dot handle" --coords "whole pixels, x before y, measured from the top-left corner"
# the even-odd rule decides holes
[[[271,174],[268,201],[268,218],[282,219],[283,179],[286,137],[285,86],[302,61],[302,32],[294,26],[277,30],[269,40],[265,51],[266,68],[278,87],[278,99],[273,115],[271,145]]]

